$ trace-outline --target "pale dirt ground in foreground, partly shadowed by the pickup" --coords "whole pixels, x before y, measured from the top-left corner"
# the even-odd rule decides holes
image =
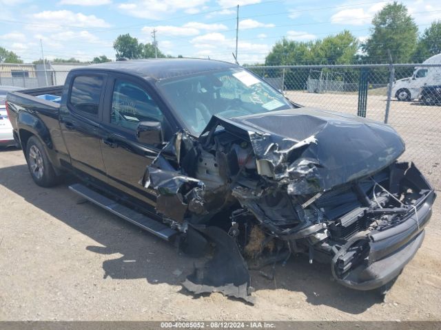
[[[385,301],[293,257],[254,306],[179,283],[194,260],[68,190],[36,186],[21,151],[0,151],[0,320],[441,320],[440,201]],[[269,272],[269,270],[267,270]]]

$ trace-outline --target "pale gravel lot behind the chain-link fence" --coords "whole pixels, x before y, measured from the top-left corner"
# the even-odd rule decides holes
[[[367,98],[367,118],[384,120],[386,96],[369,91]],[[287,96],[302,105],[356,114],[357,94],[314,94],[305,91],[287,91]],[[413,102],[391,101],[389,124],[406,142],[406,152],[402,159],[416,162],[427,175],[431,184],[441,189],[441,107],[427,106]]]

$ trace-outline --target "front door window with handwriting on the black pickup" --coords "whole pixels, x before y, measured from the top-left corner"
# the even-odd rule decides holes
[[[139,122],[163,121],[163,114],[156,102],[139,86],[116,80],[110,122],[135,130]]]

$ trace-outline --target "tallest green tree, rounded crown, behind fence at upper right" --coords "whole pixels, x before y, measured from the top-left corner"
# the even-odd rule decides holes
[[[371,36],[362,45],[371,63],[409,62],[416,50],[418,27],[402,3],[389,3],[372,20]]]

